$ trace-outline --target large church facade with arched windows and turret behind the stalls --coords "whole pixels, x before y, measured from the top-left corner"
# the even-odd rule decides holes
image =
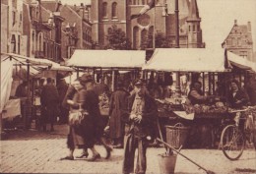
[[[162,32],[169,38],[169,47],[175,46],[175,0],[156,0],[155,7],[137,19],[131,20],[148,3],[147,0],[94,0],[92,1],[93,40],[104,47],[107,30],[112,25],[125,31],[134,49],[143,49],[147,41],[156,45],[155,35]],[[180,47],[204,47],[201,18],[196,0],[179,0]],[[149,39],[152,38],[152,39]]]

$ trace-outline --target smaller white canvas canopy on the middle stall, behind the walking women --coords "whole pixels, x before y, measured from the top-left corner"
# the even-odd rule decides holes
[[[146,51],[134,50],[75,50],[67,66],[87,68],[142,68]]]

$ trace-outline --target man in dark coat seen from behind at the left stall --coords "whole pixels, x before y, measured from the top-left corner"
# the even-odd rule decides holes
[[[40,102],[41,107],[43,110],[45,110],[45,115],[42,115],[43,117],[43,131],[46,131],[46,122],[50,121],[51,129],[50,131],[54,131],[53,125],[56,121],[56,115],[57,113],[57,107],[59,103],[59,94],[57,87],[52,85],[51,78],[47,78],[47,85],[42,87],[41,94],[40,94]]]

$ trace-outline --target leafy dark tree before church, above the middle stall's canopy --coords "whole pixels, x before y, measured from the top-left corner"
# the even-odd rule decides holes
[[[126,37],[125,32],[122,29],[118,29],[115,25],[107,30],[106,39],[108,44],[105,45],[105,49],[131,49],[131,42]]]

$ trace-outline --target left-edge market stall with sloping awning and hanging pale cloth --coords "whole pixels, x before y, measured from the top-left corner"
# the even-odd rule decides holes
[[[5,120],[14,120],[17,116],[21,116],[22,121],[19,122],[19,124],[24,129],[31,127],[35,104],[34,100],[37,98],[34,96],[34,84],[36,80],[44,77],[45,72],[73,71],[70,67],[60,66],[50,60],[35,59],[14,53],[1,53],[1,64],[6,65],[4,66],[5,69],[10,68],[10,71],[5,70],[4,73],[2,73],[4,76],[1,76],[4,80],[8,80],[8,82],[6,81],[7,83],[1,81],[1,91],[8,89],[8,92],[1,93],[2,118]],[[8,77],[7,72],[11,73],[11,78]],[[2,102],[2,98],[5,98],[5,102]],[[36,101],[38,101],[38,98]],[[20,109],[17,105],[20,105]],[[1,128],[3,127],[1,126]]]

